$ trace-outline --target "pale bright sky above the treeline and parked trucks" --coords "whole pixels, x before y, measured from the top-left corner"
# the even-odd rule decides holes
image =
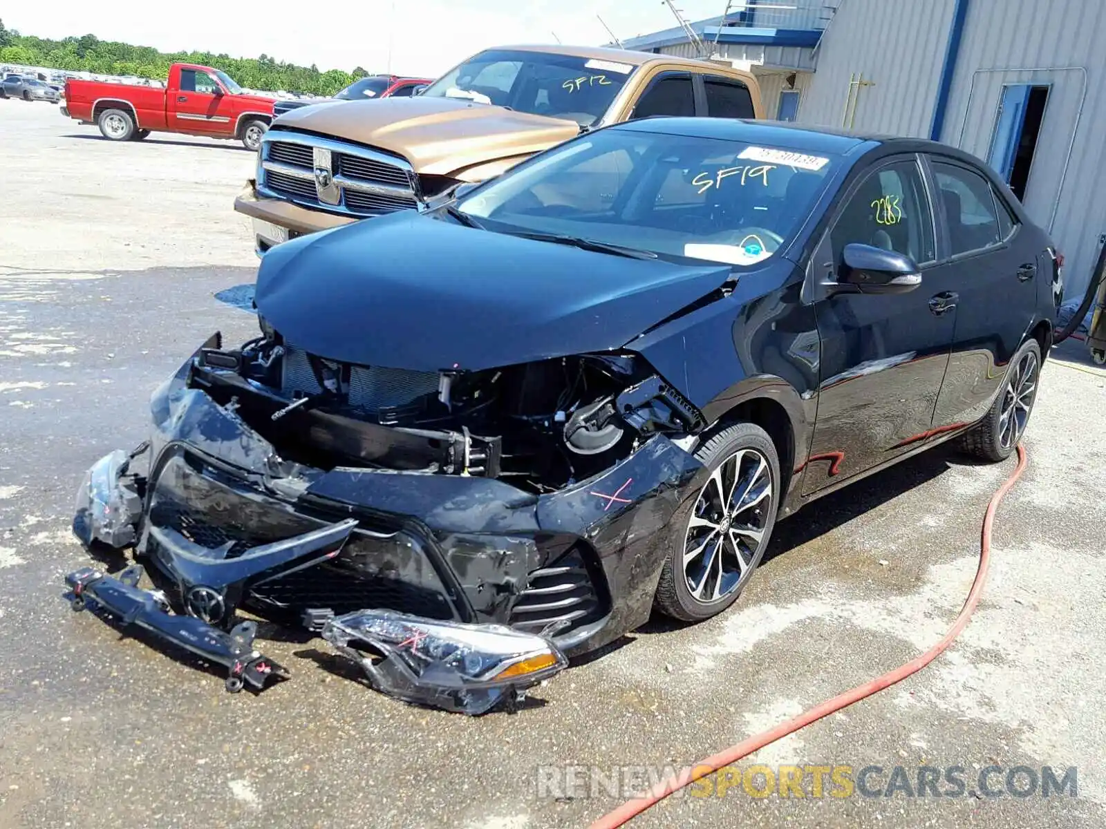
[[[688,19],[720,14],[719,0],[677,0]],[[312,15],[314,12],[314,17]],[[55,0],[8,4],[4,24],[24,34],[92,33],[165,51],[261,53],[320,69],[438,75],[469,54],[511,42],[598,44],[676,24],[661,0]],[[390,35],[390,36],[389,36]]]

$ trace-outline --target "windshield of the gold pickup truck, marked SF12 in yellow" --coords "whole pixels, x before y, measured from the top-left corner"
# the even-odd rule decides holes
[[[495,104],[586,127],[603,117],[635,69],[617,61],[493,49],[447,72],[422,97]]]

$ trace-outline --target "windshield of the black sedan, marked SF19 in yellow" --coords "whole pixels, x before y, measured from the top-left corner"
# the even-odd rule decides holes
[[[802,227],[835,164],[802,147],[603,129],[456,207],[491,231],[752,265]]]

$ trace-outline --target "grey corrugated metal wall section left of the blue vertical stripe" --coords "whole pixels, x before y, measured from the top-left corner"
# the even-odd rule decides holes
[[[843,0],[816,55],[799,120],[841,128],[849,75],[874,85],[855,94],[852,128],[929,136],[954,0]]]

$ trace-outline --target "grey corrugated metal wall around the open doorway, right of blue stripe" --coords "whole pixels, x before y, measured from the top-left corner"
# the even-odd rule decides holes
[[[1050,86],[1024,202],[1066,258],[1065,301],[1082,297],[1106,233],[1103,43],[1102,0],[972,0],[941,136],[985,158],[1003,85]]]

